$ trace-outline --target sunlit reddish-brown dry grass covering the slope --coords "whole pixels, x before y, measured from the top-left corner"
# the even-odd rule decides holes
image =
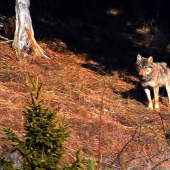
[[[146,105],[137,100],[141,90],[136,89],[136,77],[125,71],[102,76],[81,66],[86,62],[85,54],[75,55],[64,45],[61,53],[43,43],[41,46],[51,60],[38,60],[33,56],[16,60],[15,51],[0,44],[3,49],[0,51],[0,127],[8,125],[22,135],[21,106],[29,99],[23,83],[26,81],[24,74],[29,72],[32,76],[39,75],[44,82],[43,100],[53,110],[58,110],[58,118],[64,118],[72,131],[64,162],[72,161],[78,148],[83,157],[97,159],[100,114],[103,167],[150,169],[168,157],[160,115],[148,111]],[[169,125],[169,111],[164,105],[161,109],[164,126]],[[168,166],[166,162],[158,167]]]

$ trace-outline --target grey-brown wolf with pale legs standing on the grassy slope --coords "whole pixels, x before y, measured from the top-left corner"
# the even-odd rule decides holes
[[[153,62],[153,57],[142,57],[137,55],[136,70],[139,74],[139,80],[144,88],[148,99],[148,108],[153,110],[153,103],[151,100],[150,88],[153,88],[155,105],[154,109],[159,111],[159,88],[166,87],[170,104],[170,69],[167,63]]]

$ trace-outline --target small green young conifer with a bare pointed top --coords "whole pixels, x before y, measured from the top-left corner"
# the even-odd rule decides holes
[[[31,101],[24,108],[24,129],[25,140],[19,137],[10,129],[4,128],[7,140],[13,142],[12,152],[18,151],[22,156],[22,169],[24,170],[58,170],[61,169],[58,163],[64,151],[64,142],[69,136],[67,125],[55,121],[56,112],[44,106],[41,97],[42,84],[38,83],[38,77],[33,80],[27,76],[30,85],[25,85],[31,94]],[[79,169],[84,161],[76,153],[76,160],[72,165],[64,165],[63,169]],[[4,162],[3,162],[4,161]],[[5,166],[10,166],[12,162],[7,162],[0,158],[0,167],[5,170]],[[14,167],[13,167],[14,169]],[[12,170],[12,169],[11,169]]]

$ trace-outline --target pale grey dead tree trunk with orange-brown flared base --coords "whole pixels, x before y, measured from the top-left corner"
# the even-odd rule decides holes
[[[34,52],[38,57],[49,58],[34,38],[29,11],[30,0],[16,0],[16,30],[12,46],[19,52]]]

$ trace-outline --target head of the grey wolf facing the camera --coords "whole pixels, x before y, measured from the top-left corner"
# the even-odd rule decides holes
[[[139,78],[144,80],[147,75],[152,72],[153,69],[153,57],[144,58],[140,54],[137,55],[136,70],[139,74]]]

